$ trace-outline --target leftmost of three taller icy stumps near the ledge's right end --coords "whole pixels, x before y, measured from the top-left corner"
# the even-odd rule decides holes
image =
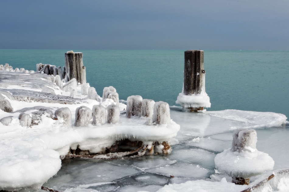
[[[131,116],[141,116],[141,102],[142,97],[140,95],[132,95],[127,98],[127,118],[131,118]]]

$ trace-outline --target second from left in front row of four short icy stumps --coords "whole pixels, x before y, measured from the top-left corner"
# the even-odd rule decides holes
[[[92,119],[92,112],[90,108],[86,106],[81,106],[76,108],[75,110],[75,123],[74,125],[77,127],[82,127],[89,125]]]

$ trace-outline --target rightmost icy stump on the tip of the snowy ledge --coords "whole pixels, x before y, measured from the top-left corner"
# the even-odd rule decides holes
[[[169,104],[163,101],[155,102],[152,120],[156,124],[170,124]]]

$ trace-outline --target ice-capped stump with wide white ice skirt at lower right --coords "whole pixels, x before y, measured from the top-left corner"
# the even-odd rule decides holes
[[[274,160],[256,149],[257,133],[254,129],[237,129],[233,133],[232,148],[215,157],[215,165],[222,173],[232,177],[232,182],[248,185],[250,177],[273,170]]]

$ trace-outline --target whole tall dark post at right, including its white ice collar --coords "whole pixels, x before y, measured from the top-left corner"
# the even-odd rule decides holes
[[[205,91],[204,51],[185,51],[183,91],[176,104],[191,112],[211,107],[210,98]]]

